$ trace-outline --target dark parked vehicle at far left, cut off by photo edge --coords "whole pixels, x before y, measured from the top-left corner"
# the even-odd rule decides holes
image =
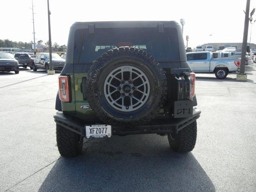
[[[19,62],[13,56],[13,54],[0,52],[0,71],[14,71],[15,74],[20,72]]]

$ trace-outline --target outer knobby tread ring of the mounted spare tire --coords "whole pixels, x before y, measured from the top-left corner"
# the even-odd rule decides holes
[[[142,61],[144,60],[153,67],[159,82],[159,90],[158,93],[155,95],[155,97],[157,98],[157,102],[154,104],[154,107],[151,108],[150,112],[146,112],[140,116],[134,116],[133,118],[123,118],[122,120],[120,120],[120,118],[116,118],[115,116],[108,114],[108,112],[106,112],[101,107],[98,101],[96,84],[99,73],[109,61],[114,60],[116,58],[127,56],[135,56],[137,58],[140,58]],[[159,110],[163,108],[164,103],[166,103],[167,90],[168,85],[166,74],[165,71],[160,67],[160,64],[153,58],[153,56],[151,56],[144,50],[134,47],[114,48],[102,54],[91,66],[86,81],[86,92],[88,94],[87,99],[92,110],[94,111],[96,116],[100,118],[100,120],[116,126],[136,126],[139,124],[150,122],[156,116],[156,114],[158,114]]]

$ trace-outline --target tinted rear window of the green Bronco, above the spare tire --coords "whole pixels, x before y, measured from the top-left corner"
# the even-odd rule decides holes
[[[174,28],[107,28],[88,29],[75,32],[74,63],[93,62],[108,50],[116,48],[118,43],[130,43],[133,47],[147,51],[159,62],[180,61],[178,35]]]

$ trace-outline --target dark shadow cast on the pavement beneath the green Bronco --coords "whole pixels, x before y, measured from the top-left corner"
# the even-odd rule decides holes
[[[90,140],[81,156],[60,158],[39,191],[214,192],[215,187],[191,152],[174,153],[166,137],[154,134]]]

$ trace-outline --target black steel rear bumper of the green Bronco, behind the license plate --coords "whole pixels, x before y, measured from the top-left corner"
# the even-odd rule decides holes
[[[118,126],[112,126],[113,135],[128,135],[128,134],[168,134],[172,132],[178,132],[187,125],[194,122],[200,117],[201,111],[197,107],[193,107],[193,116],[190,118],[172,118],[172,119],[159,119],[156,118],[148,124],[137,126],[134,128],[121,128]],[[63,114],[63,112],[56,112],[54,115],[54,121],[82,137],[85,137],[84,126],[93,124],[104,124],[103,122],[84,122],[78,118]]]

